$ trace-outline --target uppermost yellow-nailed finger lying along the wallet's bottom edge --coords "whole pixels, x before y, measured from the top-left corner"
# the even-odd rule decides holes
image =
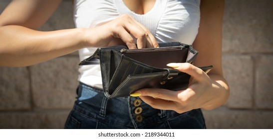
[[[176,91],[167,90],[167,89],[160,89],[160,88],[144,88],[137,90],[140,96],[150,96],[157,99],[163,100],[170,100],[170,101],[177,101],[178,93]]]

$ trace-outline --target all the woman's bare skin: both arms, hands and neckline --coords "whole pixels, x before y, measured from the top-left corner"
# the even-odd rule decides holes
[[[62,0],[13,0],[0,15],[0,66],[25,67],[38,64],[87,46],[107,47],[126,44],[130,49],[157,47],[155,37],[142,24],[121,15],[94,28],[38,31]],[[124,0],[132,11],[145,14],[155,0]],[[201,0],[199,33],[193,43],[199,51],[195,65],[172,64],[171,68],[191,75],[185,90],[140,89],[137,95],[156,109],[178,113],[224,104],[229,86],[222,72],[222,18],[224,0]],[[131,35],[132,36],[131,36]],[[62,40],[62,41],[59,41]],[[197,67],[213,65],[206,74]],[[168,101],[166,101],[168,100]]]

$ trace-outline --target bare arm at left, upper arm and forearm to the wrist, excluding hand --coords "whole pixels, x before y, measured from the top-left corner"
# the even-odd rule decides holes
[[[28,66],[79,49],[80,30],[38,29],[61,0],[13,0],[0,15],[0,66]]]

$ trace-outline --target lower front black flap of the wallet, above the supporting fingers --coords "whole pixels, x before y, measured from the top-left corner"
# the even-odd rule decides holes
[[[200,67],[206,73],[212,66]],[[168,71],[169,70],[169,71]],[[104,91],[108,98],[128,96],[142,88],[163,88],[173,91],[188,88],[190,75],[174,69],[146,74],[128,75],[113,92]]]

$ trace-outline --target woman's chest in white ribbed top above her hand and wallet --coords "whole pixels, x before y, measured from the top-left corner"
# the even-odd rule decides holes
[[[76,0],[75,25],[95,27],[128,14],[148,28],[159,42],[193,42],[200,21],[199,0],[140,0],[142,2],[135,3],[136,1],[138,0]]]

